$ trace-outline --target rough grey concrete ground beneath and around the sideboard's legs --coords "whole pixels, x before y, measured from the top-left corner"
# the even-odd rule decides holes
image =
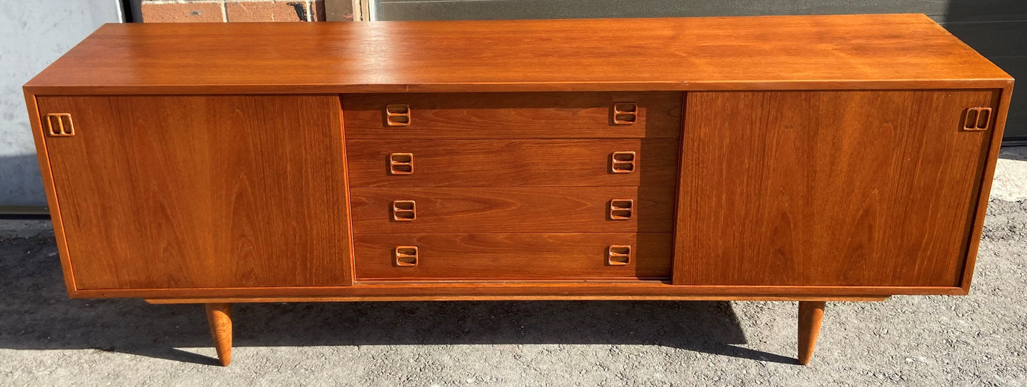
[[[0,221],[2,386],[1025,386],[1027,149],[1003,150],[966,297],[829,303],[795,364],[788,302],[244,304],[69,300],[49,223]],[[1018,188],[1021,187],[1021,188]]]

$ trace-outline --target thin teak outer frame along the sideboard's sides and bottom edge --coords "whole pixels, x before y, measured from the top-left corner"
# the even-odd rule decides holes
[[[905,82],[895,82],[895,87],[888,89],[908,89]],[[962,89],[964,87],[954,87]],[[879,87],[867,89],[879,90]],[[933,88],[943,90],[946,88]],[[857,90],[857,89],[853,89]],[[966,249],[966,260],[963,266],[963,275],[958,286],[792,286],[792,285],[672,285],[661,281],[624,281],[610,283],[559,283],[545,281],[532,281],[520,284],[501,284],[480,282],[474,284],[453,284],[434,283],[430,285],[416,284],[376,284],[360,281],[352,282],[352,285],[341,286],[253,286],[253,287],[182,287],[182,288],[102,288],[102,289],[79,289],[75,286],[75,275],[71,268],[68,256],[67,239],[65,236],[63,220],[61,217],[61,203],[58,200],[53,187],[53,178],[50,170],[49,158],[46,152],[43,139],[44,125],[40,119],[40,112],[36,104],[36,94],[26,87],[26,103],[30,112],[30,121],[33,126],[33,137],[39,150],[38,158],[40,169],[43,175],[43,183],[46,190],[47,200],[50,203],[50,215],[53,222],[54,237],[60,251],[62,267],[64,268],[65,284],[68,294],[72,298],[145,298],[153,302],[160,300],[176,300],[177,302],[210,302],[217,300],[295,300],[297,298],[309,299],[310,301],[324,300],[326,298],[352,298],[353,300],[391,300],[427,297],[434,294],[440,300],[462,300],[467,298],[481,297],[484,299],[504,297],[537,297],[547,300],[567,299],[573,300],[583,296],[568,294],[571,289],[579,291],[583,295],[595,295],[596,297],[629,297],[633,299],[675,299],[693,300],[703,299],[720,295],[723,297],[735,297],[745,299],[809,299],[830,296],[832,299],[840,298],[867,298],[867,297],[889,297],[893,295],[966,295],[973,279],[974,266],[977,261],[977,251],[980,246],[981,233],[984,224],[984,217],[987,210],[987,198],[991,189],[992,180],[995,172],[995,162],[998,157],[998,150],[1001,145],[1001,136],[1005,126],[1007,107],[1013,90],[1012,81],[1004,87],[998,89],[997,109],[994,111],[993,125],[989,129],[990,144],[984,166],[984,172],[980,182],[978,198],[976,199],[975,214],[973,215],[972,233]],[[717,91],[717,90],[702,90]],[[687,93],[686,93],[687,98]],[[687,110],[687,107],[685,107]],[[350,265],[352,268],[352,265]],[[350,269],[352,270],[352,269]],[[434,291],[431,291],[431,289]]]

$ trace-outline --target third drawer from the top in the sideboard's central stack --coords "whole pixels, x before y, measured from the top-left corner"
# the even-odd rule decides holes
[[[673,187],[353,188],[350,198],[354,233],[671,232],[674,223]],[[622,200],[630,218],[611,219],[611,204],[629,216]]]

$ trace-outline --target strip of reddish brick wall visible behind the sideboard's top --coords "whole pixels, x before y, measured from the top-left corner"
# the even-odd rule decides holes
[[[144,23],[324,22],[324,0],[142,0]]]

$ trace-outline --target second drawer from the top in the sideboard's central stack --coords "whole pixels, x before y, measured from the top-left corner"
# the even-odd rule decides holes
[[[673,139],[349,140],[346,149],[350,187],[673,187],[679,143]],[[630,172],[612,170],[618,152],[634,152]],[[408,175],[390,170],[390,155],[396,154],[409,155]]]

